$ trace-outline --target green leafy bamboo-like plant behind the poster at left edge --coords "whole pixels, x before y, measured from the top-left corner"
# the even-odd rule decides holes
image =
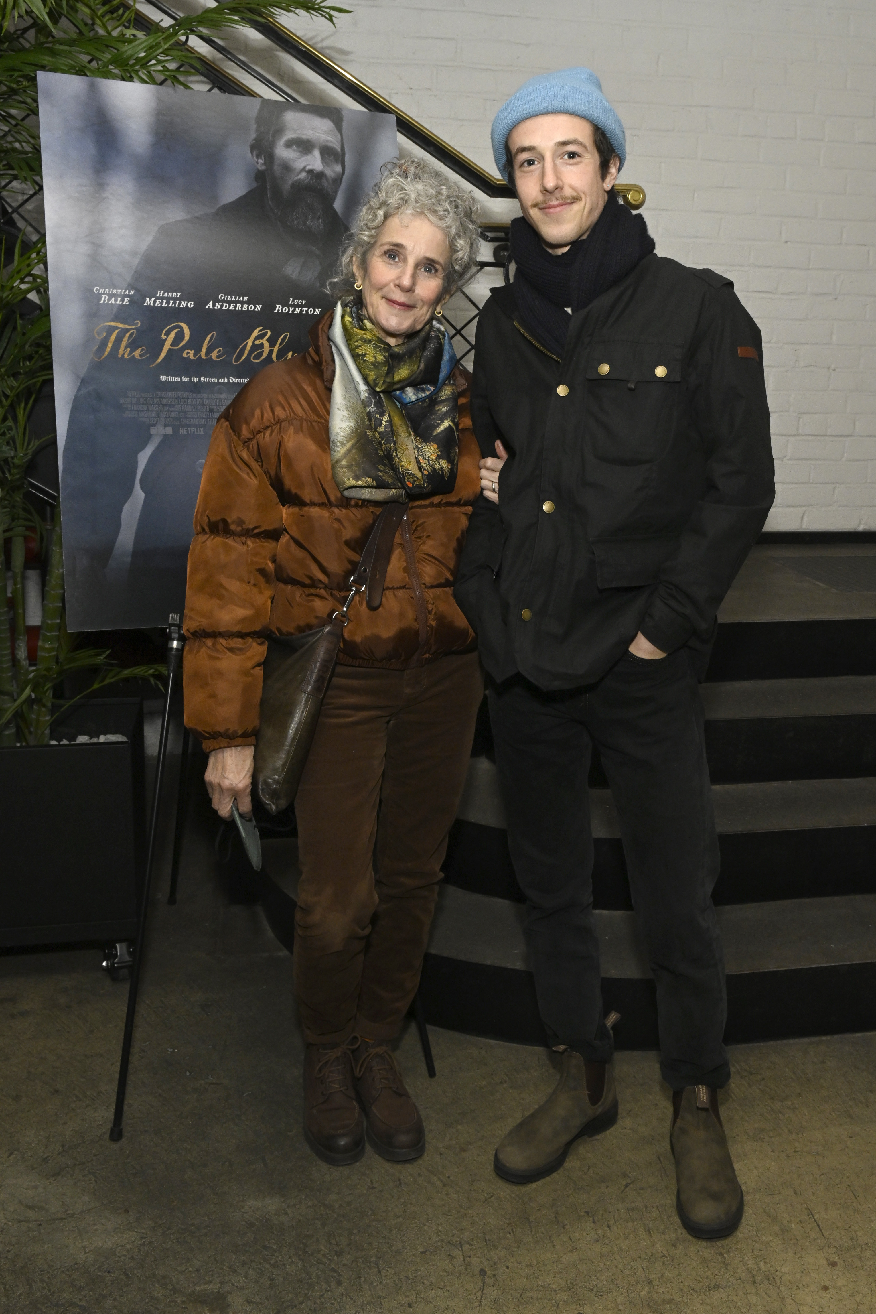
[[[46,528],[28,468],[50,438],[30,419],[51,377],[51,330],[42,222],[37,74],[41,70],[121,81],[190,85],[202,71],[188,42],[265,16],[309,14],[334,22],[348,11],[327,0],[219,0],[175,21],[148,24],[125,0],[0,0],[0,545],[8,547],[12,607],[0,593],[0,748],[47,744],[53,696],[63,675],[92,671],[79,696],[117,679],[160,678],[162,666],[120,669],[109,653],[77,646],[64,623],[59,509]],[[28,660],[25,544],[43,555],[42,625],[35,665]]]

